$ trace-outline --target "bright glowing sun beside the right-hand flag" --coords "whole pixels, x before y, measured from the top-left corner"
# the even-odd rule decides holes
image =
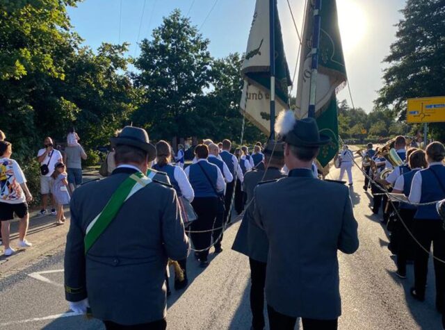
[[[337,0],[343,51],[354,51],[366,35],[367,17],[359,0]]]

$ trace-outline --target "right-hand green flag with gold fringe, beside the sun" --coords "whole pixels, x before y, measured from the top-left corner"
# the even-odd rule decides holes
[[[309,0],[305,13],[305,28],[302,36],[302,51],[298,72],[296,116],[307,117],[312,76],[312,34],[314,33],[314,1]],[[321,33],[318,48],[318,74],[316,77],[316,120],[323,133],[330,135],[332,142],[318,156],[323,167],[334,158],[339,149],[337,92],[346,85],[346,67],[341,47],[341,35],[335,0],[322,1]]]

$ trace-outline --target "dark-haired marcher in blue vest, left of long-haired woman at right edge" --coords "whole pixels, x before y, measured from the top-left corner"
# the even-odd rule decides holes
[[[398,177],[392,192],[395,194],[404,194],[406,197],[410,195],[411,183],[414,174],[420,170],[428,167],[426,163],[425,151],[417,149],[414,152],[407,153],[408,165],[410,165],[410,172],[407,172]],[[408,231],[412,232],[412,222],[417,208],[414,205],[401,203],[400,215],[403,221],[396,221],[396,228],[394,233],[397,237],[397,272],[396,275],[401,279],[406,278],[406,262],[408,258],[412,258],[414,252],[414,240]],[[398,219],[399,220],[399,219]],[[391,235],[392,237],[392,235]]]

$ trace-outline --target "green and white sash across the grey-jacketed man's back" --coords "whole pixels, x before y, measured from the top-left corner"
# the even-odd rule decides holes
[[[104,233],[105,229],[114,220],[124,202],[151,182],[152,179],[147,178],[140,172],[136,172],[120,184],[118,190],[111,195],[111,199],[102,212],[88,225],[84,239],[85,254],[87,254],[97,238]]]

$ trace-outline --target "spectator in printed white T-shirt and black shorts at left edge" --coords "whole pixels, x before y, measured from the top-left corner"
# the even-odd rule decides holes
[[[15,249],[10,247],[10,222],[14,219],[14,213],[19,220],[18,246],[31,247],[26,240],[28,231],[29,212],[28,204],[33,200],[31,192],[26,185],[26,179],[19,164],[10,158],[13,154],[13,145],[7,141],[0,141],[0,222],[1,238],[5,256],[10,256]]]

